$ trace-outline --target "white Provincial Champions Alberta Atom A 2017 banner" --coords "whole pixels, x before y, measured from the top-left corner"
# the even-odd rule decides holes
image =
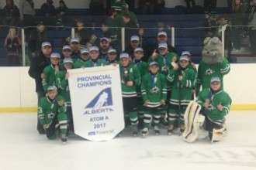
[[[74,134],[109,141],[124,128],[119,66],[68,70]]]

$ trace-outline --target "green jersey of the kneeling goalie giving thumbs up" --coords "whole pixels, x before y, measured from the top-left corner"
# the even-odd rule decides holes
[[[230,95],[223,90],[213,93],[207,88],[199,92],[197,102],[203,107],[206,99],[209,100],[209,107],[205,108],[206,116],[210,121],[221,124],[224,117],[230,112],[230,106],[232,103]],[[219,104],[223,107],[223,110],[221,111],[217,108]]]

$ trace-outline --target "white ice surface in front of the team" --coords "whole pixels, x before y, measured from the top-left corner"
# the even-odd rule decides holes
[[[211,144],[193,144],[161,129],[147,138],[134,138],[130,130],[111,141],[92,142],[71,134],[65,145],[60,138],[47,140],[36,131],[35,113],[0,114],[1,170],[250,170],[256,169],[256,113],[231,111],[227,137]]]

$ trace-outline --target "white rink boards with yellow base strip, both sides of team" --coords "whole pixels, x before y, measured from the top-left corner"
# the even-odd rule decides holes
[[[0,67],[0,112],[36,111],[35,82],[29,67]],[[232,97],[232,110],[256,110],[256,64],[231,64],[224,88]]]

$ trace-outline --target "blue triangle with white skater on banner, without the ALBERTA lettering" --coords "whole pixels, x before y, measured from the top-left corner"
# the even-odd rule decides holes
[[[112,105],[111,88],[106,88],[99,92],[94,99],[85,107],[92,108],[92,110],[99,110],[102,107]]]

